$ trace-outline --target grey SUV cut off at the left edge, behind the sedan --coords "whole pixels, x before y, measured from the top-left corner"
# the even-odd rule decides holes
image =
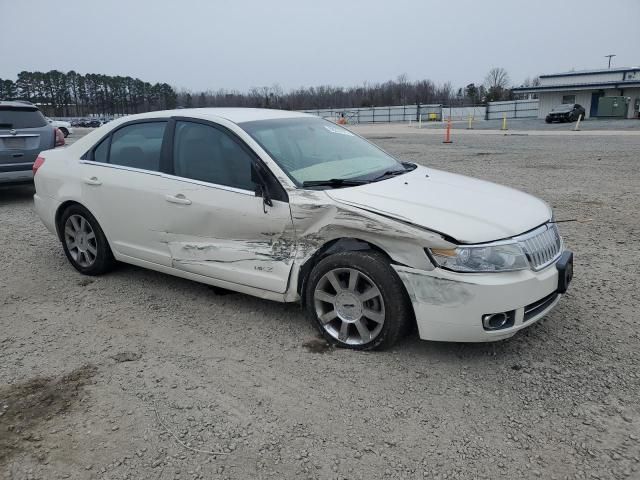
[[[31,181],[38,153],[64,143],[36,106],[0,101],[0,184]]]

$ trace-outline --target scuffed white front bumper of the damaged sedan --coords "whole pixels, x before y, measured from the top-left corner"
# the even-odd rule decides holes
[[[394,265],[404,283],[423,340],[492,342],[533,325],[558,303],[556,263],[534,272],[460,274]],[[513,312],[513,325],[485,330],[482,316]]]

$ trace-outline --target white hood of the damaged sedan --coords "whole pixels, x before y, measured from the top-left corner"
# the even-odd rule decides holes
[[[461,243],[512,237],[551,218],[542,200],[509,187],[418,166],[362,186],[326,190],[333,200],[433,230]]]

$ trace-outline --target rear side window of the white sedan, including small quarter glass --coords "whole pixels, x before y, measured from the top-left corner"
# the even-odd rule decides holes
[[[160,170],[160,150],[167,122],[135,123],[117,130],[111,137],[109,163],[143,170]],[[94,151],[97,162],[104,158],[107,141]],[[104,148],[104,153],[101,149]]]

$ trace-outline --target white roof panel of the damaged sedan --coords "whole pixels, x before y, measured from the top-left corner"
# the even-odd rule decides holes
[[[178,108],[176,110],[162,110],[159,112],[147,112],[137,115],[129,115],[118,120],[138,120],[144,118],[163,117],[192,117],[203,120],[224,118],[233,123],[252,122],[254,120],[273,120],[278,118],[303,118],[312,117],[307,113],[293,112],[289,110],[275,110],[269,108]]]

